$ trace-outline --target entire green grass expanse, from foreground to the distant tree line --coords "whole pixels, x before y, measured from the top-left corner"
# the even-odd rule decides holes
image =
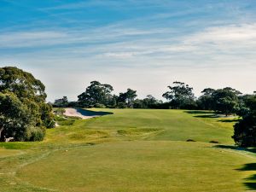
[[[256,157],[231,149],[234,118],[203,111],[94,110],[113,114],[58,119],[63,124],[48,130],[42,143],[0,143],[0,191],[256,189]]]

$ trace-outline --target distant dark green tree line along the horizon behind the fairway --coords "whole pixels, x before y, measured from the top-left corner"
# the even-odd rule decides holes
[[[172,109],[198,109],[212,110],[215,113],[241,114],[247,110],[245,100],[250,95],[243,95],[239,90],[231,87],[214,90],[206,88],[201,91],[201,96],[195,97],[193,88],[189,84],[175,81],[167,87],[162,94],[167,102],[157,100],[154,96],[138,99],[137,90],[127,89],[119,95],[112,94],[113,86],[101,84],[98,81],[90,85],[78,96],[77,102],[68,102],[67,96],[56,99],[54,107],[79,107],[79,108],[172,108]],[[253,96],[253,95],[251,95]]]

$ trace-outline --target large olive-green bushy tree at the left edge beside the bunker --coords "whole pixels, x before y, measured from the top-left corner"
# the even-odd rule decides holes
[[[38,141],[55,125],[44,84],[16,67],[0,68],[0,140]]]

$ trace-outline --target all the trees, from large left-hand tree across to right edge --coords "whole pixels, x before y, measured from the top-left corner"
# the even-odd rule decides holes
[[[147,96],[137,98],[137,90],[127,89],[112,94],[113,86],[98,81],[68,102],[67,96],[46,102],[44,84],[17,67],[0,67],[0,141],[42,141],[45,130],[55,127],[52,106],[58,108],[173,108],[212,110],[226,116],[237,114],[241,119],[234,126],[233,139],[241,147],[256,146],[256,92],[243,95],[230,87],[207,88],[195,97],[193,88],[183,82],[167,87],[162,102]]]

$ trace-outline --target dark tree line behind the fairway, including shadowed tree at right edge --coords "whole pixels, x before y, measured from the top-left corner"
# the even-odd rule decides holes
[[[67,96],[55,100],[55,107],[79,108],[172,108],[211,110],[225,116],[234,114],[241,119],[234,125],[232,138],[241,147],[256,146],[256,91],[252,95],[244,95],[231,87],[223,89],[206,88],[201,96],[195,97],[193,88],[189,84],[175,81],[163,93],[167,102],[162,102],[148,95],[144,99],[137,99],[137,91],[127,89],[119,96],[111,94],[113,86],[90,82],[90,86],[78,96],[77,102],[68,102]]]

